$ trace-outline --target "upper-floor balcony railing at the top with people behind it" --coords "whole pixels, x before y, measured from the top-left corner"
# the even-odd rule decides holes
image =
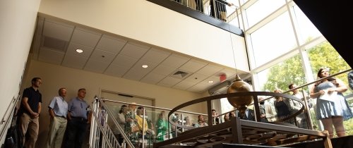
[[[237,6],[223,0],[147,0],[244,37]]]

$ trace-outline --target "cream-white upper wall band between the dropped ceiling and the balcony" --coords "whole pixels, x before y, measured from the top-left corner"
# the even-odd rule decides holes
[[[40,15],[112,32],[235,68],[231,35],[213,25],[145,0],[43,0]],[[244,37],[232,35],[237,68],[249,72]]]

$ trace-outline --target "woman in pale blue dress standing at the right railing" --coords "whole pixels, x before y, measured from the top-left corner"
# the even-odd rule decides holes
[[[328,68],[320,68],[318,78],[328,77],[330,75],[328,71]],[[333,126],[338,137],[345,136],[343,121],[353,117],[342,94],[346,90],[347,86],[342,80],[333,77],[316,82],[311,88],[310,97],[317,98],[316,118],[321,120],[330,137],[333,137]]]

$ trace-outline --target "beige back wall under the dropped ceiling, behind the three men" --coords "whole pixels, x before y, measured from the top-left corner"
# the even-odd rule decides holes
[[[30,80],[33,77],[42,78],[42,113],[40,115],[40,135],[37,140],[37,147],[44,147],[44,142],[49,130],[49,114],[47,106],[49,101],[58,95],[60,87],[66,87],[68,90],[67,100],[76,97],[77,91],[81,87],[87,90],[86,100],[91,102],[95,95],[100,94],[100,90],[112,90],[114,92],[123,92],[125,94],[133,94],[141,97],[154,98],[156,106],[172,109],[192,99],[198,99],[205,94],[186,92],[184,90],[174,90],[167,87],[157,85],[149,85],[142,82],[114,78],[99,73],[91,73],[64,66],[56,66],[50,63],[40,61],[31,61],[23,82],[23,90],[30,86]],[[22,91],[21,91],[22,92]],[[193,109],[184,111],[195,111],[206,113],[205,106],[193,106]]]

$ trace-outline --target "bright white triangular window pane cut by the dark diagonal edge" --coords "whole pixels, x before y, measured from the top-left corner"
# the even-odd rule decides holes
[[[297,24],[297,32],[299,35],[299,43],[305,44],[315,37],[321,36],[321,32],[311,23],[308,17],[305,16],[303,11],[298,8],[298,6],[294,6],[291,8],[294,23]]]

